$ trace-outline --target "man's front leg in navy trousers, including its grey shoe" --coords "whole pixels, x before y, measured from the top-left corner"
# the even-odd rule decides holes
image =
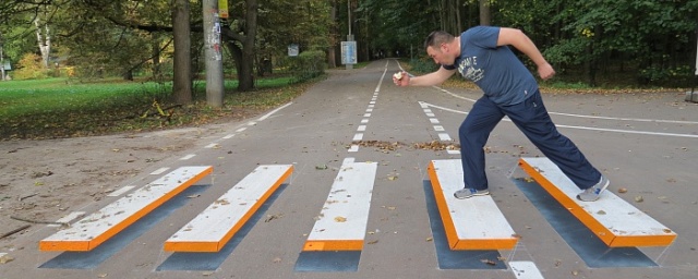
[[[484,167],[484,145],[490,133],[502,120],[504,113],[486,97],[480,98],[458,129],[460,141],[460,161],[462,163],[465,189],[488,190],[488,178]],[[477,194],[477,191],[473,191]],[[467,191],[456,194],[458,198],[470,197]]]

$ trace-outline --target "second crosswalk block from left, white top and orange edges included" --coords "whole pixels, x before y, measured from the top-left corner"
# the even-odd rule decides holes
[[[218,252],[293,171],[292,165],[262,165],[170,236],[164,250]]]

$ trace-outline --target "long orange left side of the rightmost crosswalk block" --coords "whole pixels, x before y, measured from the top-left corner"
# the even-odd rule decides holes
[[[610,231],[605,226],[599,222],[595,218],[593,218],[587,210],[581,208],[575,201],[573,201],[565,193],[559,191],[557,186],[551,183],[543,174],[538,172],[531,165],[529,165],[522,158],[519,159],[519,166],[526,173],[531,175],[535,182],[538,182],[549,194],[553,196],[553,198],[557,199],[559,204],[562,204],[571,215],[577,217],[579,221],[581,221],[593,234],[595,234],[603,243],[610,245],[616,235]]]

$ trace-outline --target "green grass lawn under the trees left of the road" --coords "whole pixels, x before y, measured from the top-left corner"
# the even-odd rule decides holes
[[[209,108],[205,82],[194,83],[194,101],[171,101],[171,83],[103,80],[77,83],[65,78],[0,83],[0,140],[56,138],[139,132],[205,124],[287,102],[306,84],[290,77],[260,78],[256,90],[236,92],[226,81],[224,108]],[[154,101],[164,109],[158,113]]]

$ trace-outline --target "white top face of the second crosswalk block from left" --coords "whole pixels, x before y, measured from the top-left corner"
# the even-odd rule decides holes
[[[218,197],[167,242],[219,242],[282,178],[292,165],[262,165]]]

